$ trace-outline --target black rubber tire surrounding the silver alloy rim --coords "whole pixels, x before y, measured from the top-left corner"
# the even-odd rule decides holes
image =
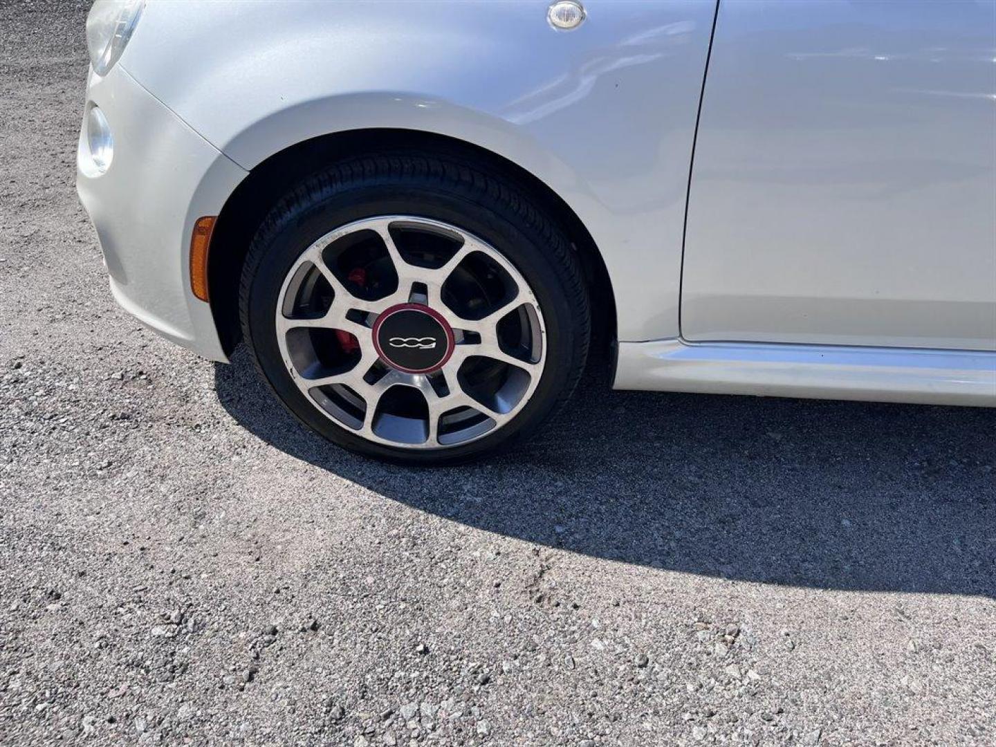
[[[335,228],[390,214],[444,221],[479,236],[519,270],[543,309],[547,359],[537,388],[511,421],[477,440],[431,450],[367,440],[317,408],[283,363],[275,314],[294,262]],[[589,349],[588,290],[563,229],[511,181],[453,156],[357,156],[299,184],[269,212],[253,239],[239,307],[243,339],[259,372],[299,420],[352,451],[412,465],[467,461],[521,442],[570,397]]]

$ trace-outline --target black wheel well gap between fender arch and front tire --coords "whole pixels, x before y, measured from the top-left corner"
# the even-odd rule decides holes
[[[608,350],[616,334],[616,302],[609,273],[588,229],[556,192],[507,158],[463,140],[409,129],[358,129],[315,137],[271,155],[252,169],[225,202],[208,257],[211,312],[225,353],[231,354],[241,337],[238,289],[246,253],[273,205],[295,184],[344,157],[412,150],[473,159],[475,166],[529,193],[561,224],[578,251],[592,296],[593,349]]]

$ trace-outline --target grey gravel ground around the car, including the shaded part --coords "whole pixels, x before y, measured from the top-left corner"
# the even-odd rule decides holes
[[[0,8],[0,742],[996,743],[994,413],[612,392],[385,467],[114,304]]]

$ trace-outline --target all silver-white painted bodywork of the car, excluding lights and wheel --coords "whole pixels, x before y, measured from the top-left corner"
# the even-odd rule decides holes
[[[79,189],[116,296],[224,360],[197,217],[308,138],[424,130],[579,216],[618,386],[996,404],[991,5],[589,0],[568,32],[548,5],[149,0],[88,88],[116,154]]]

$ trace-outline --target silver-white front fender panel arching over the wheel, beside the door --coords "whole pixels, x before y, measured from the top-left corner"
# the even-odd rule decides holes
[[[547,6],[153,0],[122,64],[244,168],[368,127],[499,153],[607,248],[621,338],[672,337],[715,0],[594,0],[566,33]]]

